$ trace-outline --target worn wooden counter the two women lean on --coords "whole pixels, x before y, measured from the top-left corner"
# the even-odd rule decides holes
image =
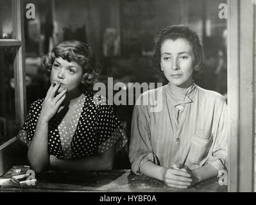
[[[35,186],[0,188],[0,192],[227,192],[218,178],[209,179],[187,190],[168,188],[162,181],[138,176],[131,170],[101,172],[56,172],[36,174]]]

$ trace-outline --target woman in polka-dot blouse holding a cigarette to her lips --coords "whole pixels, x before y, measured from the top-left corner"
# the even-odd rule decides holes
[[[92,92],[100,68],[92,49],[62,42],[44,58],[44,66],[51,86],[45,99],[31,104],[17,135],[28,146],[31,167],[36,172],[112,169],[127,138],[112,106]]]

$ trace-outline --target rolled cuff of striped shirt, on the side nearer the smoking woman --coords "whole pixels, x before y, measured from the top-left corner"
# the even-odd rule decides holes
[[[155,163],[156,165],[160,165],[159,160],[157,158],[157,156],[155,156],[155,154],[152,153],[148,153],[148,154],[142,154],[141,156],[139,156],[139,158],[137,158],[136,161],[134,161],[132,163],[132,171],[135,174],[140,175],[140,167],[146,162],[146,161],[152,161],[153,163]]]

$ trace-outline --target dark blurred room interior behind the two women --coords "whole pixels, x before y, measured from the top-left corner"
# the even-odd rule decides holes
[[[12,5],[0,0],[0,38],[12,37]],[[205,52],[205,69],[196,84],[226,97],[226,19],[219,19],[219,4],[226,0],[25,0],[27,107],[44,98],[49,78],[42,69],[42,56],[64,40],[80,40],[92,46],[103,70],[99,81],[114,84],[167,83],[151,65],[154,38],[169,25],[194,29]],[[26,5],[35,4],[35,19],[26,18]],[[13,56],[0,49],[0,145],[17,134]],[[112,89],[112,88],[110,88]],[[133,106],[114,106],[130,137]],[[126,156],[128,148],[124,151]],[[121,154],[122,155],[122,154]],[[120,156],[121,156],[120,155]],[[123,160],[120,165],[129,168]]]

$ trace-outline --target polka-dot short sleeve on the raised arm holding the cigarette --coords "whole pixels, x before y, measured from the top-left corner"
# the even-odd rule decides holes
[[[24,125],[16,136],[27,147],[30,146],[35,134],[35,127],[37,126],[37,120],[42,109],[42,101],[43,99],[39,99],[31,104]]]

